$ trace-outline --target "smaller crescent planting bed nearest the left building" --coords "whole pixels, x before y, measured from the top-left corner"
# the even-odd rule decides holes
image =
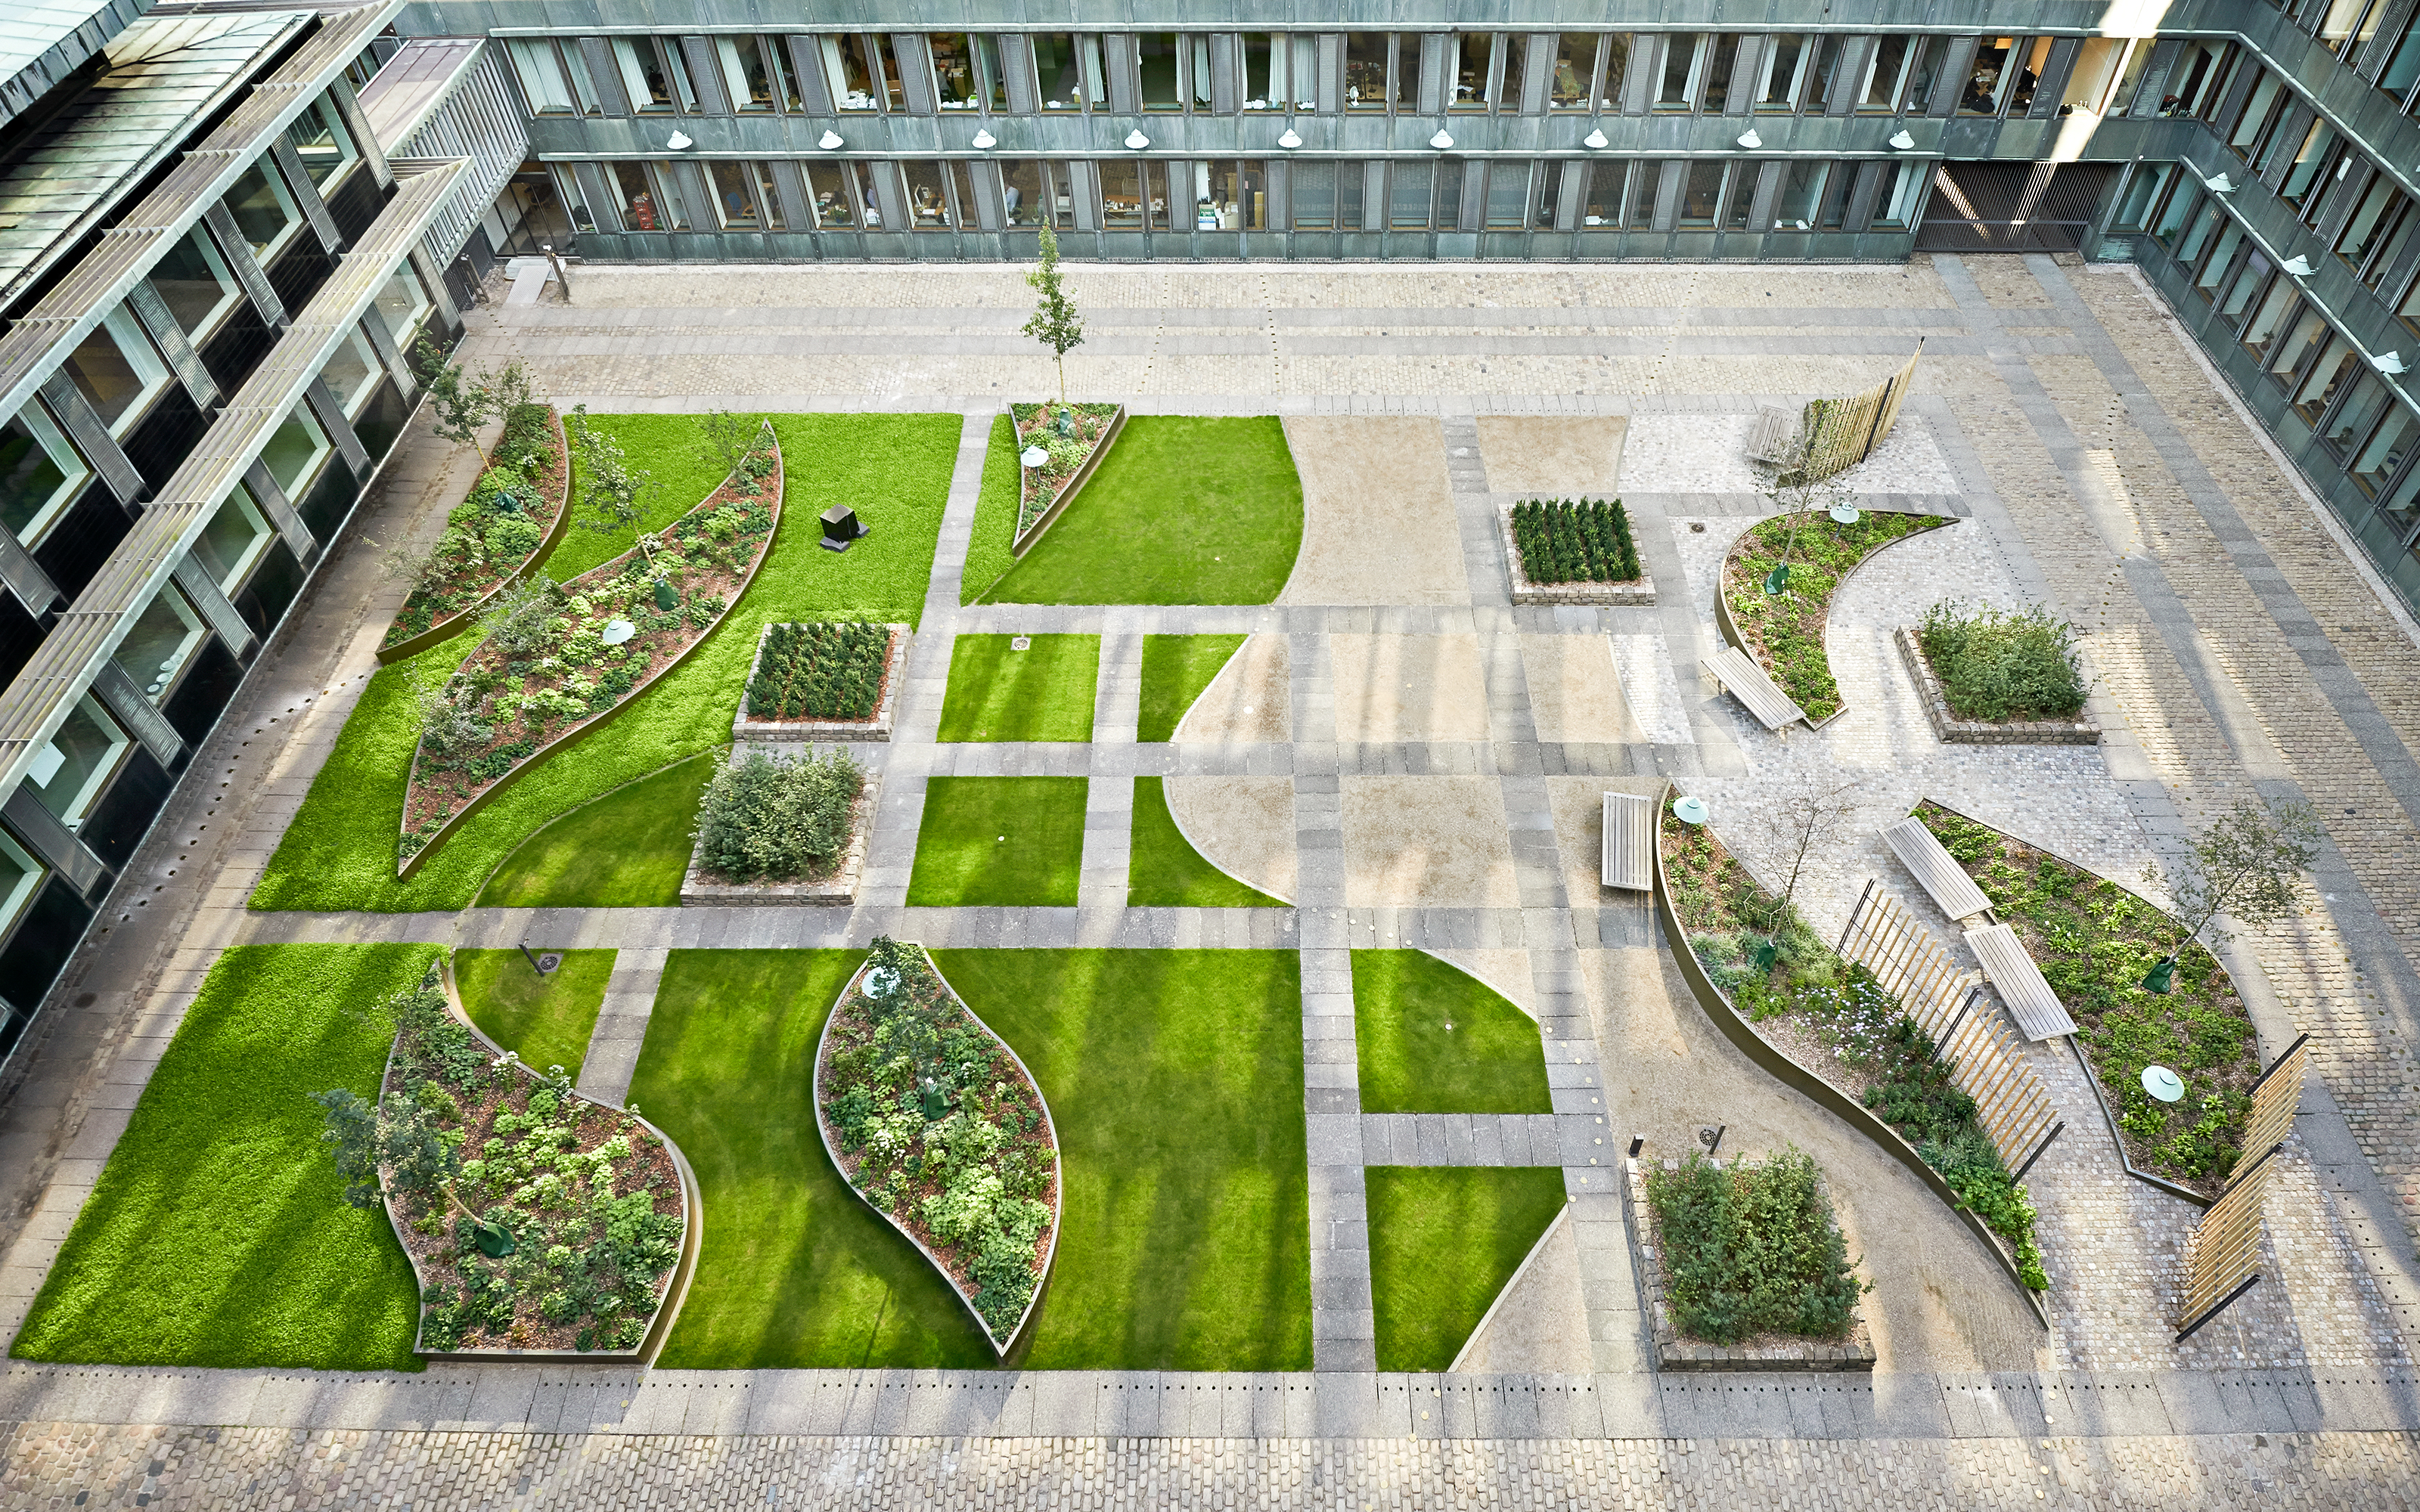
[[[569,455],[564,416],[554,406],[523,404],[503,421],[503,438],[469,498],[445,515],[428,576],[394,612],[378,646],[380,665],[460,634],[499,588],[525,578],[554,552],[571,525]]]

